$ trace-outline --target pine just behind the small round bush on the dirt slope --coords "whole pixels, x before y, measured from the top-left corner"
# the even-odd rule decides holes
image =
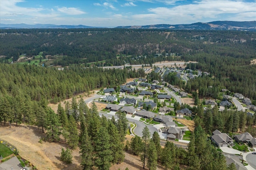
[[[70,116],[69,118],[69,123],[68,123],[68,145],[72,149],[76,149],[79,141],[79,136],[78,136],[78,130],[76,126],[76,121],[73,116]]]

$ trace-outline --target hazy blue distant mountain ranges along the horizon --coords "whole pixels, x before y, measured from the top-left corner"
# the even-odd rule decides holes
[[[4,24],[0,23],[1,29],[11,28],[103,28],[103,27],[90,27],[86,25],[54,25],[54,24],[35,24],[28,25],[24,23],[20,24]],[[156,24],[156,25],[134,25],[134,26],[118,26],[116,28],[126,29],[207,29],[207,30],[244,30],[244,31],[256,31],[256,21],[213,21],[208,23],[192,23],[192,24]]]

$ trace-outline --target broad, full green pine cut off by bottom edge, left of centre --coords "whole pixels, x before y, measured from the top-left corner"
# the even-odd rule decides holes
[[[110,135],[105,127],[100,127],[96,137],[95,166],[98,167],[98,170],[108,170],[113,160],[113,153],[110,149]]]

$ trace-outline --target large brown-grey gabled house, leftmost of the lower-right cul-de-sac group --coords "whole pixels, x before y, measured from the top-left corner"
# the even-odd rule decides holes
[[[228,145],[233,145],[234,141],[226,133],[221,133],[218,130],[212,132],[211,140],[218,147],[228,147]]]

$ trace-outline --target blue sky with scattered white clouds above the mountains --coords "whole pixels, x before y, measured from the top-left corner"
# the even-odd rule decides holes
[[[0,23],[88,25],[255,21],[256,0],[0,0]]]

